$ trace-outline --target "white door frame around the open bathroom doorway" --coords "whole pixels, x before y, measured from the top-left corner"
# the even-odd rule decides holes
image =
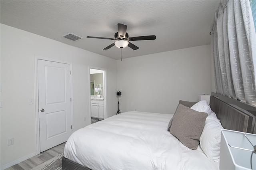
[[[105,68],[100,68],[100,67],[94,67],[94,66],[90,66],[88,67],[88,71],[89,71],[89,83],[91,82],[91,71],[90,69],[97,69],[97,70],[102,70],[103,71],[103,87],[104,87],[104,101],[103,101],[103,104],[104,104],[104,119],[107,119],[108,118],[108,105],[107,105],[107,83],[106,83],[106,75],[107,75],[107,69]],[[90,85],[89,85],[89,121],[90,121],[90,124],[92,124],[92,112],[91,112],[91,89],[90,89]]]

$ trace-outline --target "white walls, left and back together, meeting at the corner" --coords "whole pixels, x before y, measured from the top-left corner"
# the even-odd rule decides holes
[[[89,124],[89,65],[106,68],[108,117],[116,114],[117,90],[121,113],[173,114],[180,99],[198,101],[214,84],[210,45],[116,61],[3,24],[0,31],[1,166],[36,152],[35,106],[28,105],[35,97],[35,55],[72,63],[74,130]],[[12,137],[15,144],[8,146]]]

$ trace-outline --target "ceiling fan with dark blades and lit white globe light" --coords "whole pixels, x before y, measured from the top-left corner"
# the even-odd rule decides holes
[[[128,41],[141,41],[141,40],[156,40],[156,36],[139,36],[139,37],[129,37],[128,33],[126,32],[127,26],[124,24],[117,24],[118,26],[118,32],[114,35],[115,38],[104,38],[104,37],[91,37],[87,36],[87,38],[98,38],[98,39],[106,39],[106,40],[114,40],[116,42],[108,45],[104,49],[110,49],[114,45],[118,48],[125,48],[130,47],[131,49],[139,49],[136,45],[133,43],[130,43]]]

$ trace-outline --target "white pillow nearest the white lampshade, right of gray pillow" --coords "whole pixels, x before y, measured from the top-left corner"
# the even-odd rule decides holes
[[[214,112],[212,113],[215,115]],[[220,158],[221,129],[223,129],[223,127],[220,120],[215,117],[209,116],[206,118],[204,129],[199,141],[206,156],[210,160],[218,161]]]

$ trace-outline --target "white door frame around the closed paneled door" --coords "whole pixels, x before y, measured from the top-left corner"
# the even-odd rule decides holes
[[[64,63],[70,65],[70,95],[71,99],[73,99],[73,81],[72,81],[72,63],[68,61],[61,61],[57,59],[51,59],[46,57],[34,56],[35,62],[35,113],[36,113],[36,154],[40,154],[40,128],[39,128],[39,96],[38,96],[38,60],[45,60],[45,61],[52,61],[57,63]],[[73,102],[71,102],[71,123],[74,125],[73,122]],[[74,126],[73,126],[74,127]],[[71,132],[74,132],[74,128],[72,128]]]

